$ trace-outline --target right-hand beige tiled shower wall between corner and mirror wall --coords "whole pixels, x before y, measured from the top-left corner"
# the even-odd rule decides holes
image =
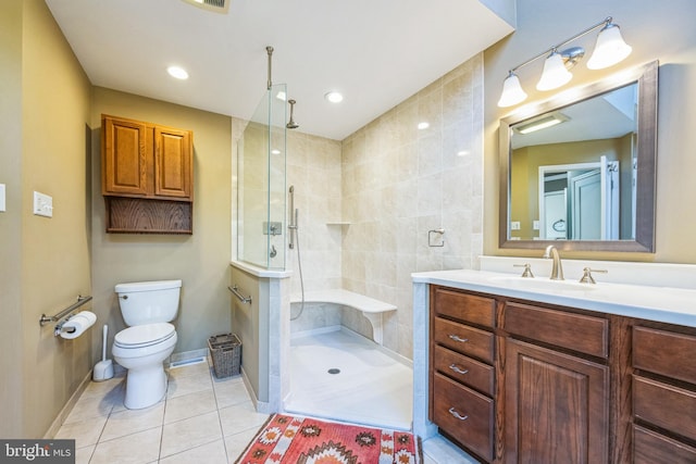
[[[407,358],[411,273],[475,267],[483,250],[482,111],[476,55],[343,141],[343,287],[398,306],[384,346]]]

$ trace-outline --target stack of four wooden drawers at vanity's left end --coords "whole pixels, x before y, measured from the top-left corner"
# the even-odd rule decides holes
[[[445,436],[490,462],[496,301],[435,287],[431,308],[431,419]]]

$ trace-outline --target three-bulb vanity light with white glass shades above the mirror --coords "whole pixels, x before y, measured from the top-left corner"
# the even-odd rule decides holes
[[[529,59],[524,63],[512,67],[508,72],[508,77],[506,77],[502,83],[502,93],[500,95],[500,100],[498,100],[498,106],[512,106],[513,104],[521,103],[526,99],[527,96],[522,89],[520,78],[515,74],[515,71],[533,63],[539,58],[546,57],[546,60],[544,61],[542,77],[536,85],[537,90],[552,90],[567,84],[573,77],[568,70],[574,66],[577,61],[584,57],[585,50],[582,47],[572,47],[561,51],[559,51],[559,49],[562,46],[599,28],[601,29],[597,35],[595,49],[587,61],[588,68],[602,70],[623,61],[629,54],[631,54],[632,49],[623,41],[619,26],[612,23],[611,16],[608,16],[602,22],[575,34],[573,37],[563,40],[562,42]]]

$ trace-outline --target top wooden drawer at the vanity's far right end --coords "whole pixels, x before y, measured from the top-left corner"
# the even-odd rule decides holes
[[[694,353],[696,337],[647,327],[633,328],[633,366],[636,368],[696,384]]]

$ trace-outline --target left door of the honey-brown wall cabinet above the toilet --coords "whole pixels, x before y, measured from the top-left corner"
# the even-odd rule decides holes
[[[145,196],[148,133],[142,123],[107,117],[102,122],[102,193]]]

